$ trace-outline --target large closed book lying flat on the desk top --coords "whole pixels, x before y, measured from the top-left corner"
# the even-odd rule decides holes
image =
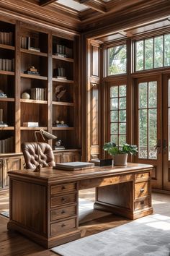
[[[81,171],[88,168],[94,168],[94,163],[88,162],[70,162],[70,163],[56,163],[53,166],[55,169],[66,171]]]

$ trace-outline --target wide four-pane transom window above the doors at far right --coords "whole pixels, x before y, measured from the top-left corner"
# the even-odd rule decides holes
[[[170,66],[170,34],[135,42],[135,71]]]

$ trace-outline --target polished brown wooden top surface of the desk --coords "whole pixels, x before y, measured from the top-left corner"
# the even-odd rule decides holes
[[[150,164],[128,163],[127,166],[94,166],[81,171],[63,171],[52,167],[41,168],[40,172],[33,169],[9,171],[9,176],[21,179],[36,179],[41,182],[76,182],[82,179],[93,179],[95,177],[116,176],[121,174],[133,174],[138,171],[147,171],[153,168]]]

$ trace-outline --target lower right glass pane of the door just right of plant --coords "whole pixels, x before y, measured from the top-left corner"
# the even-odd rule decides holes
[[[155,145],[157,141],[157,109],[148,110],[148,158],[156,159],[157,150]]]

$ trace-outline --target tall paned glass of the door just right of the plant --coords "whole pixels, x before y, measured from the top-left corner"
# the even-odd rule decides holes
[[[156,159],[157,82],[140,82],[138,98],[138,157]]]

